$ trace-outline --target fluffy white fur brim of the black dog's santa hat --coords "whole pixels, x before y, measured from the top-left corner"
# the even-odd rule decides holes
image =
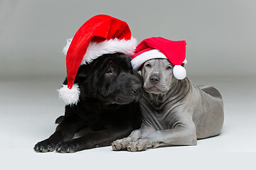
[[[63,48],[63,53],[65,55],[67,55],[71,41],[71,38],[68,39],[67,45]],[[125,55],[132,56],[134,55],[136,46],[137,40],[135,38],[131,38],[131,40],[119,40],[118,38],[114,38],[103,42],[90,42],[80,65],[90,63],[101,55],[113,54],[115,52],[121,52]]]

